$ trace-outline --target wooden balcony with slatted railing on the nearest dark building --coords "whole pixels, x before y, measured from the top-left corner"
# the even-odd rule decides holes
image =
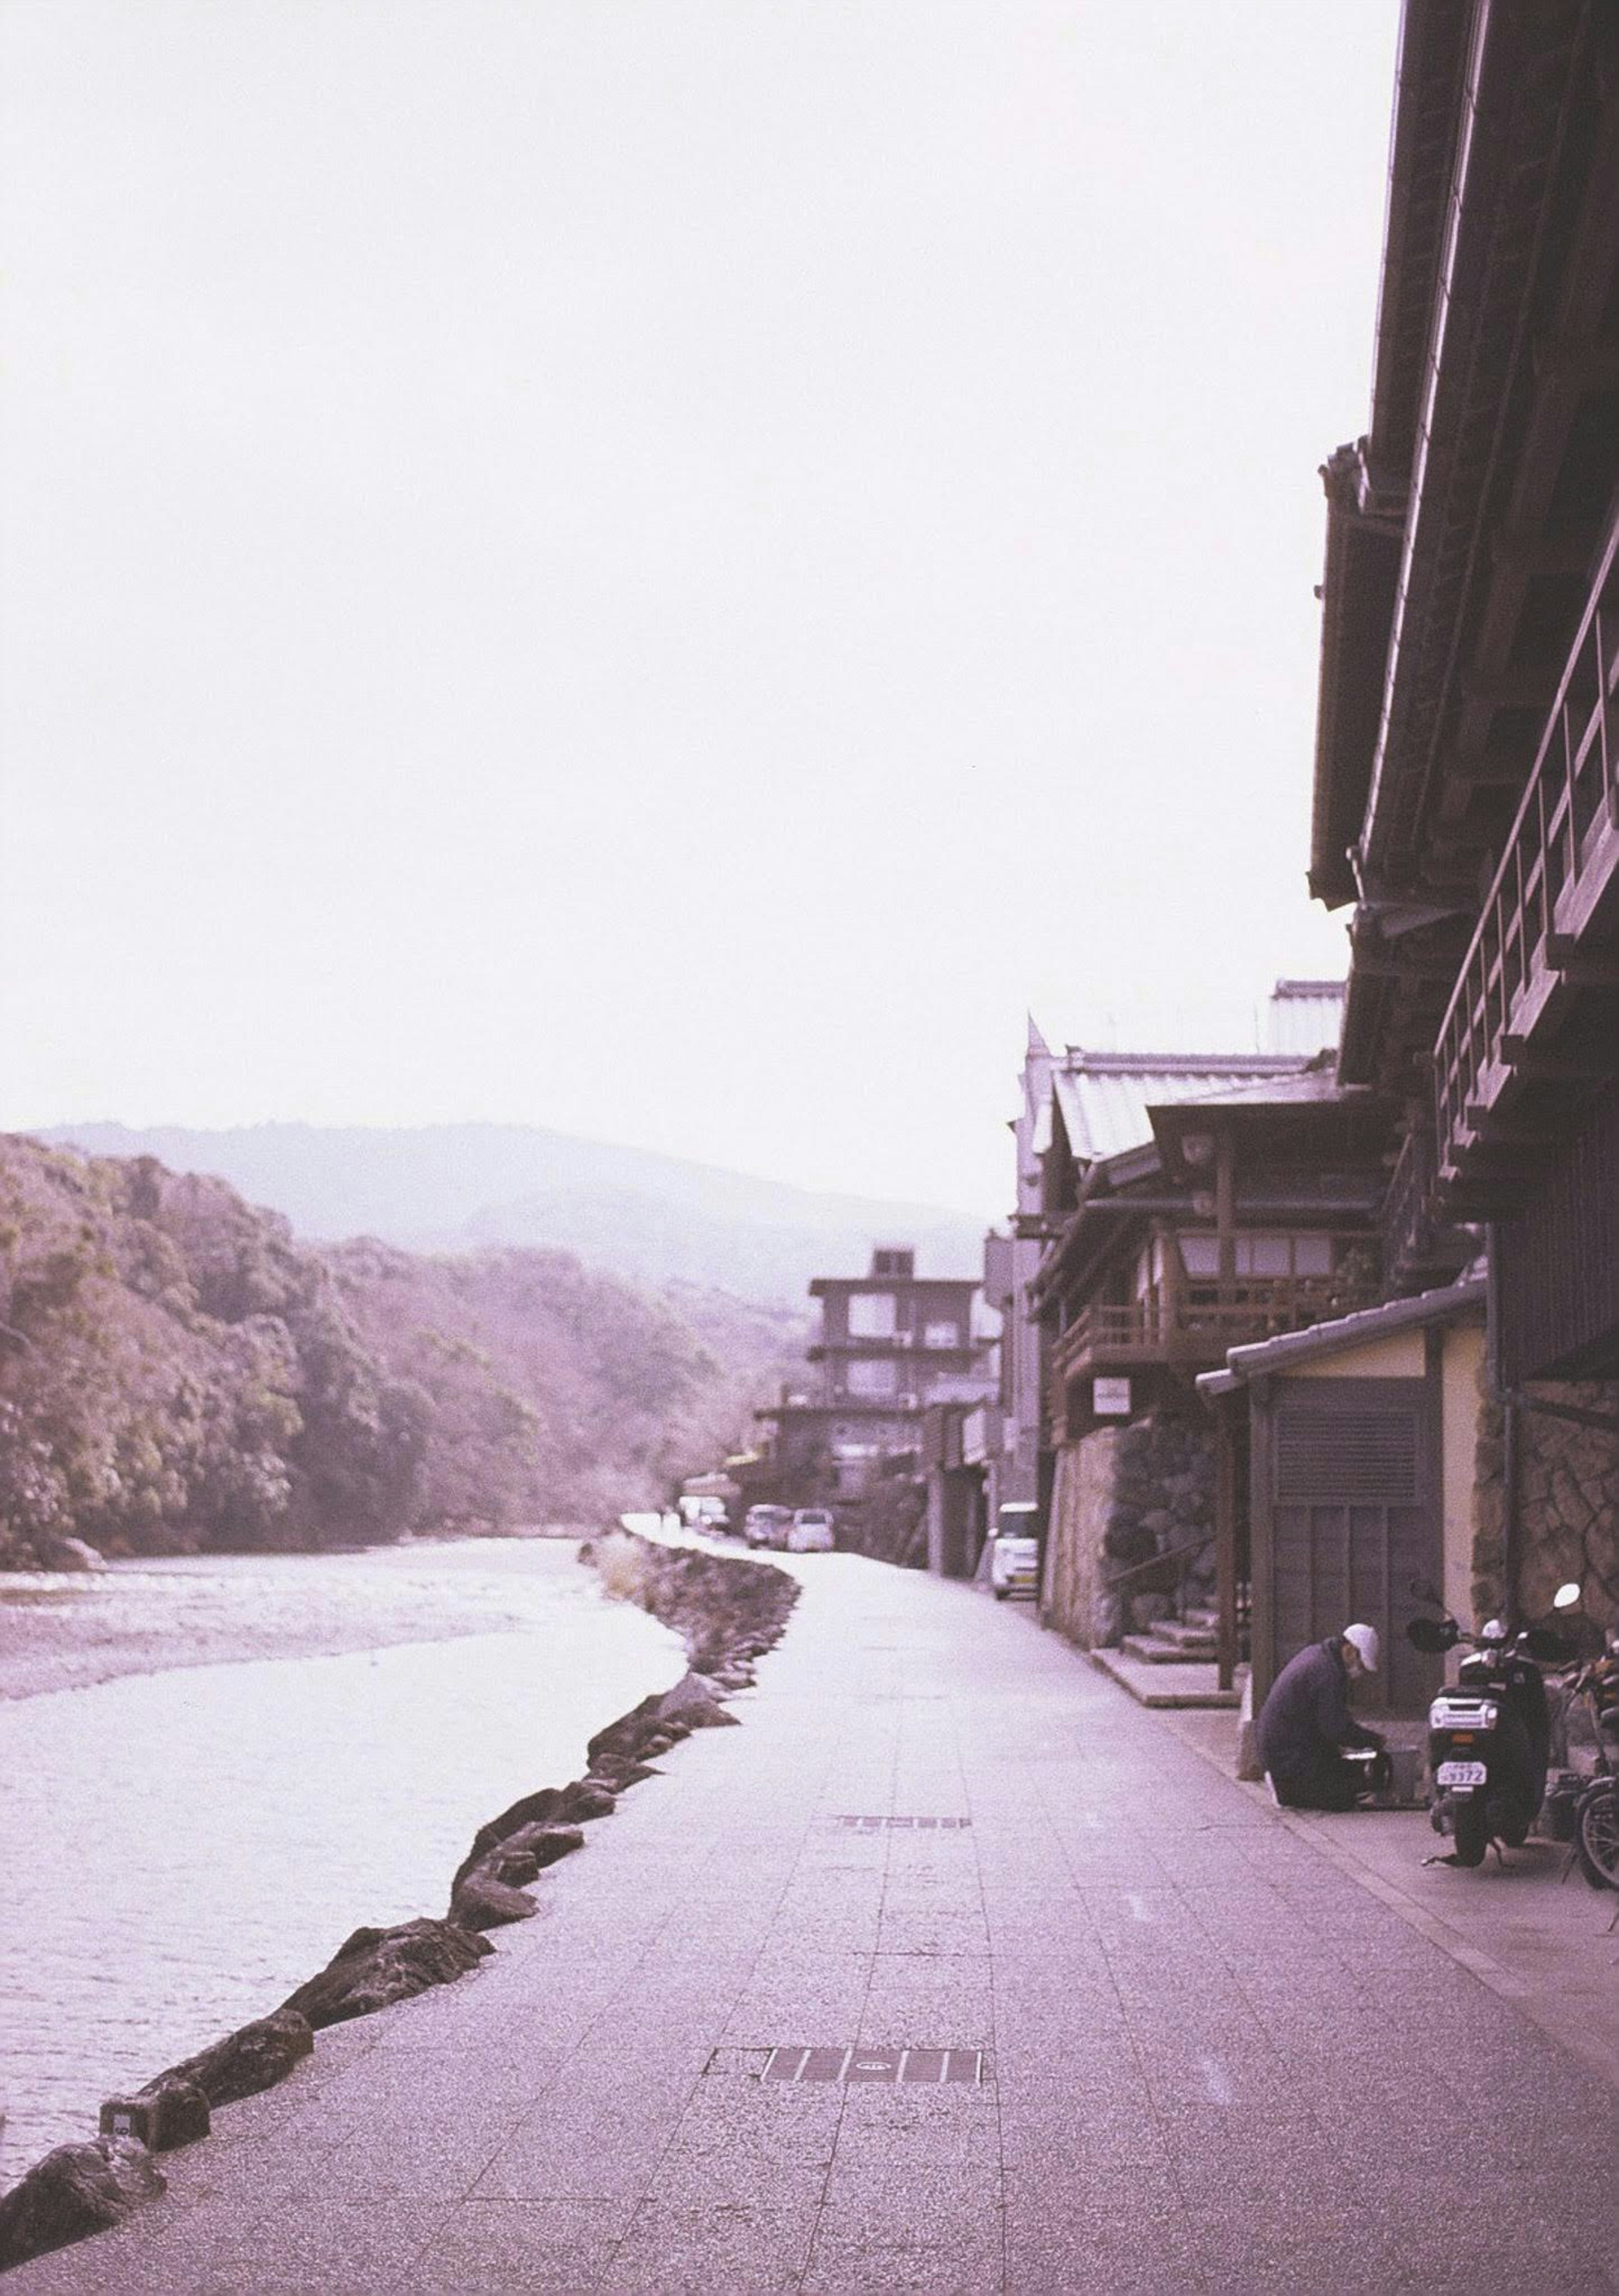
[[[1619,1029],[1619,514],[1435,1045],[1438,1210],[1534,1189]]]

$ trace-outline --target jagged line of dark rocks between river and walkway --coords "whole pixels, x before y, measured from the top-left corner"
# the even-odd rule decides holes
[[[797,1584],[769,1564],[664,1548],[613,1529],[579,1550],[609,1593],[638,1603],[687,1644],[691,1669],[643,1699],[588,1745],[586,1775],[521,1795],[478,1828],[450,1883],[443,1919],[356,1929],[280,2009],[175,2064],[133,2096],[110,2096],[101,2131],[46,2154],[0,2200],[0,2271],[122,2223],[165,2190],[156,2154],[209,2133],[211,2112],[273,2087],[312,2053],[328,2025],[452,1984],[494,1947],[485,1931],[537,1913],[528,1885],[583,1846],[618,1795],[696,1729],[735,1724],[723,1699],[753,1681],[753,1662],[783,1635]]]

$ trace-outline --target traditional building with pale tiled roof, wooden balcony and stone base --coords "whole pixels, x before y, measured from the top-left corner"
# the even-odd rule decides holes
[[[1235,1655],[1240,1557],[1217,1570],[1196,1375],[1378,1297],[1389,1111],[1339,1086],[1339,1010],[1337,983],[1281,983],[1272,1042],[1300,1049],[1052,1061],[1027,1306],[1047,1362],[1043,1612],[1077,1642],[1219,1587]]]

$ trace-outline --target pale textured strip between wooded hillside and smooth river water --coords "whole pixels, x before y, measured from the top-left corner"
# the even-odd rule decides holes
[[[526,1623],[535,1541],[409,1538],[324,1554],[161,1554],[103,1570],[0,1570],[0,1699],[90,1690],[126,1674],[338,1658]],[[266,1570],[278,1587],[266,1598]]]

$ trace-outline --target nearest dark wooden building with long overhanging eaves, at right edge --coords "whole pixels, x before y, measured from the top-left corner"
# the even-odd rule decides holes
[[[1337,1075],[1394,1109],[1389,1295],[1488,1270],[1447,1577],[1495,1609],[1559,1570],[1612,1616],[1619,9],[1408,0],[1371,416],[1323,478],[1309,882],[1350,909]],[[1350,1504],[1332,1474],[1316,1502]],[[1438,1504],[1438,1467],[1412,1474]]]

